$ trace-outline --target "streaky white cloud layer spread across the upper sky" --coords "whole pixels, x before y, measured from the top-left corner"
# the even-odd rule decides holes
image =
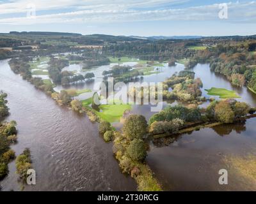
[[[13,11],[17,4],[25,1],[12,1],[9,4],[0,4],[1,8],[8,8],[8,12]],[[27,3],[29,1],[26,1]],[[118,4],[117,4],[118,2]],[[166,0],[130,0],[116,1],[106,0],[104,4],[99,0],[88,1],[40,1],[40,7],[36,6],[36,10],[57,9],[60,8],[76,8],[74,11],[53,13],[48,15],[37,15],[36,18],[12,17],[0,18],[0,24],[11,25],[27,25],[27,24],[49,24],[49,23],[112,23],[112,22],[135,22],[148,20],[221,20],[218,18],[220,11],[219,4],[211,4],[205,6],[191,6],[188,8],[176,9],[145,9],[152,6],[159,6],[166,3],[177,3],[178,1]],[[101,3],[101,4],[100,4]],[[13,5],[15,4],[15,5]],[[51,5],[49,5],[51,4]],[[256,19],[256,2],[248,3],[227,3],[228,5],[228,22],[255,22]],[[138,9],[143,8],[143,9]],[[20,8],[23,10],[24,8]],[[19,10],[19,11],[20,11]],[[27,11],[24,10],[24,11]]]

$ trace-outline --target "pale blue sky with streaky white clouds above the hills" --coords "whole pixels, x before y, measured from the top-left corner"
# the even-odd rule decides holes
[[[125,36],[256,34],[256,1],[0,0],[0,33]]]

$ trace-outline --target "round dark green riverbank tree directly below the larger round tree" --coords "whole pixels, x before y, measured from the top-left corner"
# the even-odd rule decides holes
[[[143,161],[147,156],[145,143],[143,140],[135,138],[127,147],[127,155],[133,161]]]

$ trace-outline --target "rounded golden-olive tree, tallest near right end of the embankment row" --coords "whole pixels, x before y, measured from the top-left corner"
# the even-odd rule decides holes
[[[215,117],[220,122],[224,122],[224,123],[234,122],[235,113],[233,112],[227,100],[220,101],[215,106]]]

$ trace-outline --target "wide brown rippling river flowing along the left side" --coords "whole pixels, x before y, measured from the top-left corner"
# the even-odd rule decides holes
[[[16,120],[16,155],[31,149],[36,185],[25,191],[135,191],[136,184],[120,172],[112,144],[99,136],[97,124],[61,108],[44,92],[36,90],[8,61],[0,61],[0,89],[8,94],[10,117]],[[19,191],[14,161],[2,191]]]

